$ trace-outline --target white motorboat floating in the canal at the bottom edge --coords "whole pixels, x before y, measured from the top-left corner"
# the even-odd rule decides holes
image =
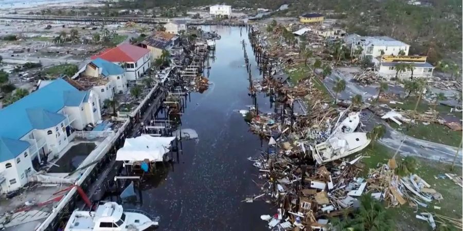
[[[158,225],[143,213],[123,210],[116,202],[106,202],[96,211],[74,211],[64,231],[141,231]]]

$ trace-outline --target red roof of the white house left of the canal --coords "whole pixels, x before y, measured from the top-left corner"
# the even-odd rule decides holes
[[[129,43],[123,43],[117,47],[107,49],[98,55],[93,55],[92,60],[100,57],[109,62],[137,62],[150,50],[134,46]]]

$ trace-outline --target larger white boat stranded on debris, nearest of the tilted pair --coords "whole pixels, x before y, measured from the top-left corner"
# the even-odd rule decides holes
[[[312,156],[318,164],[328,163],[352,155],[364,149],[370,142],[365,132],[343,134],[315,145]]]

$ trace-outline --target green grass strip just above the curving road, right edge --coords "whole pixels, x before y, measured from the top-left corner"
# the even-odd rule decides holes
[[[394,122],[389,122],[389,125],[396,130],[402,131],[407,136],[454,147],[458,147],[462,139],[461,131],[451,130],[447,126],[441,124],[431,123],[424,125],[418,122],[412,124],[409,128],[406,127],[406,124],[399,126]]]

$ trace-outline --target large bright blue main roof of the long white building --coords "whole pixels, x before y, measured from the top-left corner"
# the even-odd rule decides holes
[[[49,120],[57,120],[57,117],[48,113],[46,117],[49,120],[46,117],[43,118],[48,120],[47,123],[35,120],[32,122],[29,117],[31,110],[27,109],[42,109],[56,113],[64,106],[74,106],[77,102],[82,102],[86,98],[86,94],[88,93],[79,92],[63,79],[55,80],[0,110],[0,137],[19,140],[29,131],[36,128],[34,126],[47,124],[50,122]]]

